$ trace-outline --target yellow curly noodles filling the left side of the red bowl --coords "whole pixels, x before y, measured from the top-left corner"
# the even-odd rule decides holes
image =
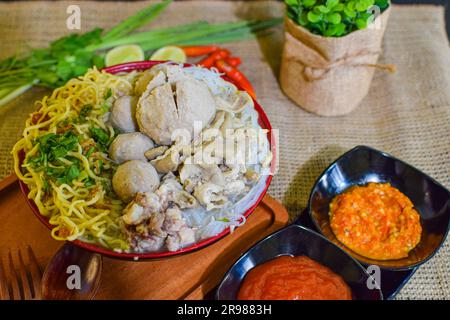
[[[106,130],[110,138],[114,137],[113,128],[103,121],[105,96],[109,90],[114,97],[132,94],[132,81],[133,77],[115,76],[95,68],[80,78],[71,79],[36,103],[38,111],[26,120],[22,139],[13,147],[14,170],[19,179],[27,184],[30,190],[28,197],[54,225],[51,235],[57,240],[81,239],[117,251],[129,249],[120,228],[124,204],[114,193],[105,189],[110,186],[115,165],[99,151],[92,153],[88,159],[83,146],[89,148],[92,145],[90,126],[100,127]],[[74,123],[85,105],[93,108],[86,117],[86,123]],[[61,129],[64,123],[71,125],[79,137],[79,143],[66,155],[72,160],[59,158],[56,165],[48,163],[48,168],[70,167],[74,163],[73,158],[77,158],[80,160],[79,170],[82,171],[71,183],[58,183],[43,171],[36,171],[42,169],[34,168],[33,163],[28,162],[40,156],[37,138],[49,133],[63,133],[66,130]],[[22,164],[20,159],[25,159]],[[97,174],[94,169],[99,159],[103,161],[103,172]],[[87,177],[93,181],[88,187],[83,182]]]

